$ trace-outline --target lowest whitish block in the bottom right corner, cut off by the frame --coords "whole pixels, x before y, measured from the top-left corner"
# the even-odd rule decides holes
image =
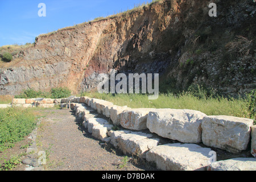
[[[221,160],[210,164],[208,171],[256,171],[255,158]]]

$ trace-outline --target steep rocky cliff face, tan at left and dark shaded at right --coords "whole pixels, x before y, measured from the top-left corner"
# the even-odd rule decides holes
[[[223,94],[256,88],[256,3],[159,1],[40,35],[0,73],[0,94],[67,86],[96,89],[100,73],[159,73],[160,88],[204,84]]]

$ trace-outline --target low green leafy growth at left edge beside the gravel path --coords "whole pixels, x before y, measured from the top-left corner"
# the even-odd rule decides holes
[[[35,129],[36,117],[30,109],[0,109],[0,152],[14,146]]]

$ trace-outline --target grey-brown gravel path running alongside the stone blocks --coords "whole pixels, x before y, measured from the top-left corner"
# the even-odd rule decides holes
[[[43,110],[38,129],[38,150],[45,151],[49,171],[143,171],[156,170],[144,160],[124,155],[111,145],[96,140],[82,127],[73,111]]]

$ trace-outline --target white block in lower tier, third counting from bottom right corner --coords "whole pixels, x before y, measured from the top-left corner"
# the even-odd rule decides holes
[[[132,132],[127,130],[112,131],[111,143],[124,154],[133,154],[139,158],[146,158],[146,152],[158,145],[159,139],[152,138],[152,134]]]

